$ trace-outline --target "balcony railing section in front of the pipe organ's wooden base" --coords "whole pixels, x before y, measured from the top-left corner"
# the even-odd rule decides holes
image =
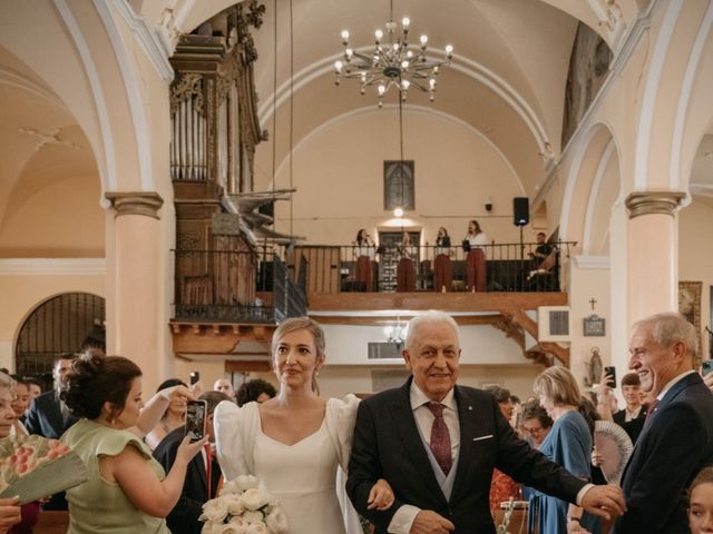
[[[272,304],[256,297],[257,256],[235,250],[174,250],[176,258],[174,319],[182,322],[277,324],[305,315],[306,296],[285,264],[268,263]]]

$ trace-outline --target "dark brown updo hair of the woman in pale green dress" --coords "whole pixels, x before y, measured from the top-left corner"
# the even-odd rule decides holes
[[[124,409],[134,378],[141,369],[123,356],[91,350],[72,360],[67,387],[60,398],[76,417],[97,419],[104,404],[111,403],[109,422]]]

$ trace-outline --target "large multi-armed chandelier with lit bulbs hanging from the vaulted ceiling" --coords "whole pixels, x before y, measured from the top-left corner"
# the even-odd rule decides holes
[[[401,20],[401,31],[397,34],[397,22],[393,21],[393,0],[391,13],[384,24],[384,31],[374,31],[375,44],[371,53],[362,53],[349,46],[349,30],[342,31],[344,46],[343,61],[334,62],[334,82],[339,86],[342,79],[358,79],[361,93],[367,88],[375,86],[379,107],[383,105],[383,97],[389,89],[394,88],[406,101],[410,89],[417,88],[429,95],[432,102],[436,98],[436,77],[441,66],[450,65],[453,47],[446,47],[446,60],[429,60],[426,57],[428,36],[419,39],[419,44],[409,42],[411,21],[408,17]]]

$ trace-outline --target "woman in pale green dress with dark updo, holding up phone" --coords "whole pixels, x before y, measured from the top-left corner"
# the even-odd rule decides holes
[[[89,479],[67,491],[68,534],[169,534],[165,517],[207,436],[195,443],[186,437],[168,475],[141,437],[178,397],[192,395],[174,386],[144,406],[141,369],[121,356],[94,353],[72,362],[61,398],[81,419],[61,439],[85,462]]]

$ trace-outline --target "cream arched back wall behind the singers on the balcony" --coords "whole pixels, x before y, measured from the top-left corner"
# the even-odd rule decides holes
[[[407,113],[404,123],[404,159],[416,161],[416,210],[407,211],[404,224],[423,227],[423,244],[434,241],[439,226],[459,241],[472,218],[497,243],[519,240],[512,197],[524,191],[495,149],[472,130],[438,117]],[[293,233],[313,244],[351,244],[359,228],[373,236],[377,227],[389,225],[392,215],[383,209],[387,159],[399,159],[398,118],[388,110],[346,118],[312,136],[294,155]],[[283,168],[277,184],[287,181]],[[487,196],[491,214],[485,210]],[[276,229],[289,231],[286,202],[277,205],[276,218]],[[401,221],[391,224],[400,227]]]

